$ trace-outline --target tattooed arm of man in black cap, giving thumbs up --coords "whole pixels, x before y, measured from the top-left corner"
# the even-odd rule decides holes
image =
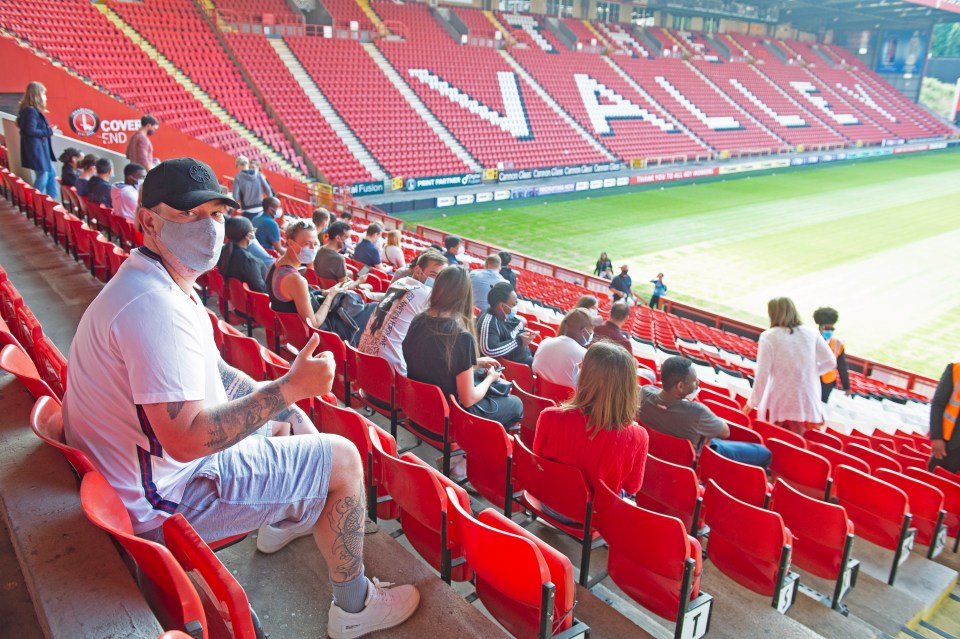
[[[281,413],[285,413],[285,421],[293,423],[294,417],[299,421],[302,413],[288,407],[329,392],[333,383],[330,353],[313,357],[318,343],[316,336],[311,338],[290,372],[272,382],[257,384],[239,371],[227,380],[224,371],[230,375],[234,369],[224,364],[220,370],[230,397],[225,404],[207,407],[202,400],[145,404],[146,418],[165,453],[179,461],[191,461],[229,448]]]

